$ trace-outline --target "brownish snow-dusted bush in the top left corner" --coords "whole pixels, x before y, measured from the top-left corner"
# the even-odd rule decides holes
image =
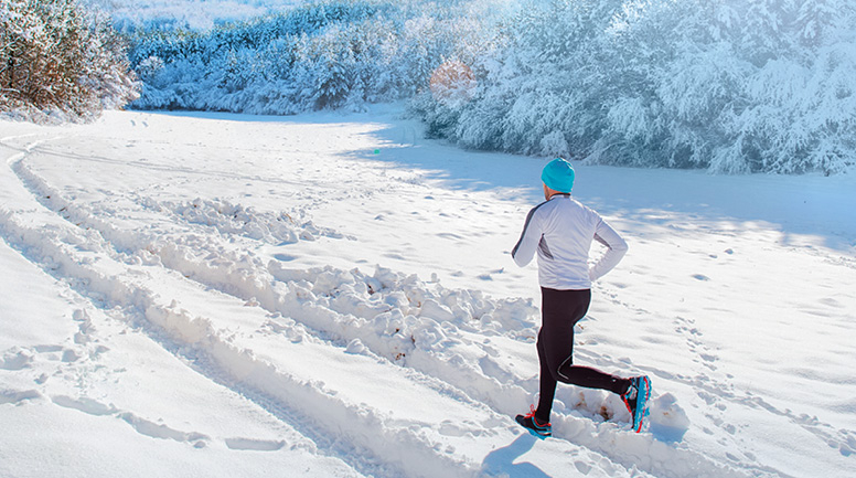
[[[8,0],[0,25],[0,110],[76,119],[136,97],[119,38],[76,0]]]

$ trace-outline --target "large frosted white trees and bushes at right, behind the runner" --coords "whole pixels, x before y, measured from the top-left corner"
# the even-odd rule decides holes
[[[714,172],[856,162],[856,2],[542,0],[479,59],[472,102],[413,102],[480,149]]]

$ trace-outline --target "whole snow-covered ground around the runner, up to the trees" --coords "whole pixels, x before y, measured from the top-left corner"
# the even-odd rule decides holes
[[[577,167],[630,243],[535,401],[543,160],[395,107],[0,123],[0,476],[801,476],[856,469],[856,180]],[[595,251],[597,254],[599,251]]]

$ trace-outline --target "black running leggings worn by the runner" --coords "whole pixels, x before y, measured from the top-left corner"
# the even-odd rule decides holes
[[[542,325],[537,344],[541,399],[535,412],[538,422],[549,422],[556,382],[624,393],[630,386],[629,379],[571,364],[574,326],[586,316],[591,302],[591,290],[556,290],[542,287],[541,297]]]

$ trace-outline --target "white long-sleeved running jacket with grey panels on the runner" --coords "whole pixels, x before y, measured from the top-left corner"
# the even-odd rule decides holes
[[[607,252],[588,265],[591,241]],[[538,283],[557,290],[582,290],[624,257],[628,245],[593,210],[570,194],[556,194],[529,211],[523,233],[511,255],[523,267],[538,253]]]

